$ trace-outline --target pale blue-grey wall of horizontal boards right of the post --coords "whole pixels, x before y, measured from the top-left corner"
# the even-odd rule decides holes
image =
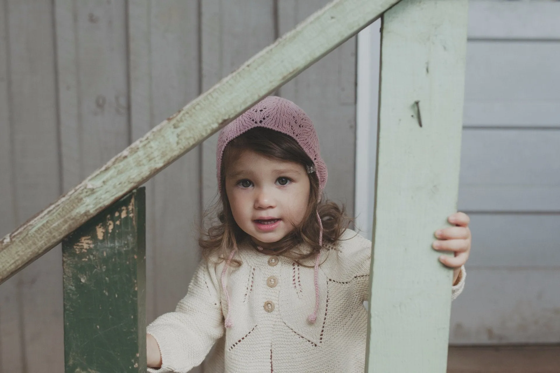
[[[560,342],[560,2],[470,1],[455,344]]]

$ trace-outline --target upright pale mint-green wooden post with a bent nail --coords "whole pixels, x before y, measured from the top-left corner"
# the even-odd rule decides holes
[[[446,371],[452,271],[431,243],[456,211],[467,8],[403,0],[383,16],[368,372]]]

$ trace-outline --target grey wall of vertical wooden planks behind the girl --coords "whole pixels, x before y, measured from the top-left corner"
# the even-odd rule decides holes
[[[328,0],[0,2],[0,236]],[[279,89],[353,206],[356,40]],[[147,183],[147,321],[174,309],[216,195],[215,138]],[[63,371],[57,247],[0,286],[0,373]],[[194,370],[200,371],[200,370]]]

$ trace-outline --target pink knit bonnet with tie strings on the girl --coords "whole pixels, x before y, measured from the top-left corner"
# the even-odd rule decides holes
[[[218,136],[218,146],[216,150],[216,168],[217,168],[217,178],[218,178],[218,188],[220,193],[223,193],[221,188],[221,166],[223,150],[226,145],[237,136],[244,134],[246,131],[255,128],[264,127],[272,129],[288,136],[291,136],[297,141],[304,152],[313,161],[312,165],[307,165],[307,172],[316,172],[319,178],[319,199],[321,192],[326,184],[327,172],[325,162],[319,153],[319,138],[313,127],[313,123],[309,116],[298,107],[295,103],[286,98],[269,96],[264,98],[262,101],[256,103],[255,106],[251,107],[249,110],[245,111],[230,124],[225,126]],[[319,221],[319,244],[323,243],[323,224],[319,213],[317,215],[317,220]],[[226,265],[222,271],[222,289],[226,294],[227,298],[227,316],[225,325],[227,328],[232,327],[231,322],[231,304],[230,296],[228,294],[224,275],[227,268],[230,265],[231,259],[234,257],[235,251],[232,251],[230,257],[227,260]],[[318,283],[318,273],[319,273],[319,257],[320,253],[317,254],[315,258],[315,311],[309,316],[309,321],[314,323],[317,318],[317,311],[319,309],[319,283]]]

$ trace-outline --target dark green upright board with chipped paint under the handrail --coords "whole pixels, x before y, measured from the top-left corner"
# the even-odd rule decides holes
[[[134,190],[63,240],[67,373],[146,371],[145,204]]]

